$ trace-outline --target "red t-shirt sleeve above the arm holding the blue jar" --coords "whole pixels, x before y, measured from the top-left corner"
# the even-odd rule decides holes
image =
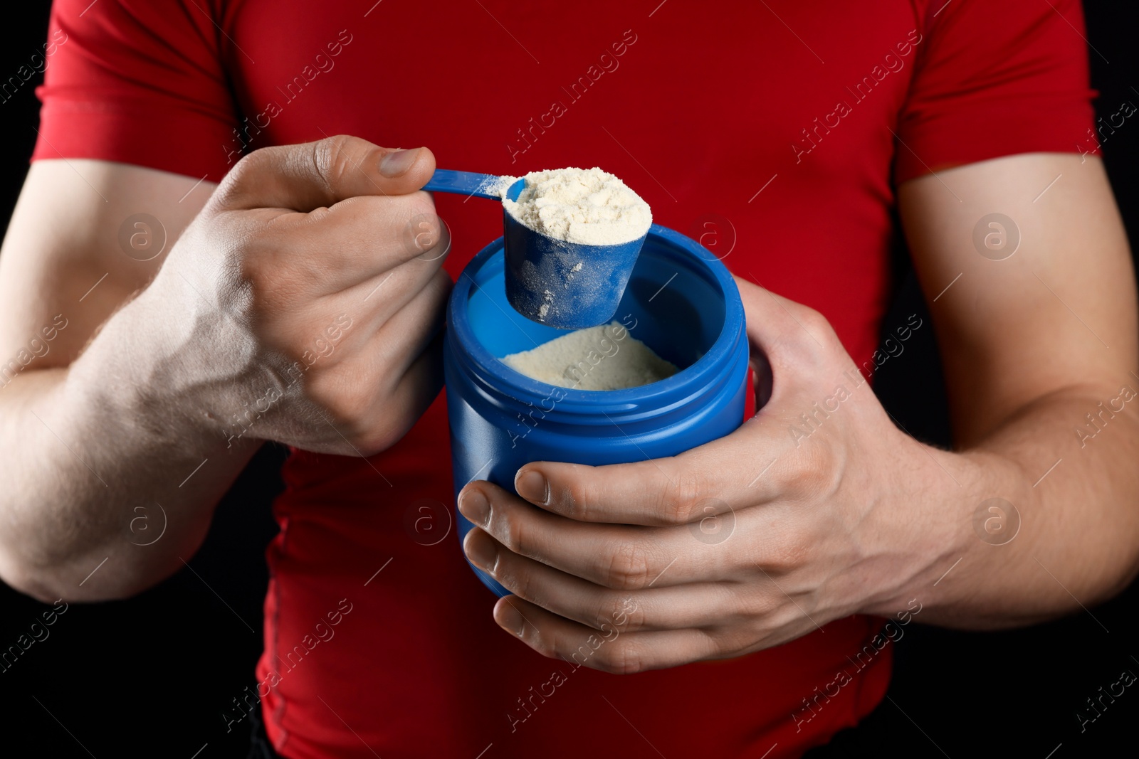
[[[1019,152],[1098,154],[1079,0],[931,0],[894,181]]]

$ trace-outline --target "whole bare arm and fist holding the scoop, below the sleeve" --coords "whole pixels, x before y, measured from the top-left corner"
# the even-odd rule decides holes
[[[0,387],[0,577],[131,595],[192,555],[263,440],[399,440],[442,385],[449,239],[417,191],[434,168],[344,137],[259,150],[219,187],[33,165],[0,254],[0,356],[48,350]],[[144,211],[169,236],[147,262],[118,242]]]

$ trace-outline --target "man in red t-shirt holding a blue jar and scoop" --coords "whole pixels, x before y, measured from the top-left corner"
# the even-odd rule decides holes
[[[797,756],[880,700],[904,625],[1107,597],[1139,559],[1134,281],[1052,5],[58,2],[0,256],[0,576],[134,593],[261,442],[294,446],[257,668],[292,758]],[[466,485],[528,649],[416,527],[451,494],[448,282],[500,233],[480,201],[436,220],[436,155],[600,165],[719,234],[765,402],[673,459]],[[895,206],[954,452],[866,383]]]

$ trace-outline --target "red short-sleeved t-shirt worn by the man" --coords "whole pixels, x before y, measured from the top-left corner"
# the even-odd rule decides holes
[[[1082,28],[1074,0],[58,0],[34,158],[218,181],[245,142],[351,133],[449,168],[601,166],[656,222],[826,314],[862,364],[899,182],[1095,148]],[[436,204],[454,275],[501,215]],[[390,451],[296,452],[284,475],[257,678],[286,757],[775,759],[885,692],[891,646],[858,655],[880,625],[867,617],[625,677],[513,640],[453,525],[434,545],[411,527],[451,519],[442,398]]]

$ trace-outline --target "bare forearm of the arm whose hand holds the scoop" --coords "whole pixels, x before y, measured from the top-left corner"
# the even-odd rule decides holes
[[[256,449],[179,386],[186,352],[154,339],[155,315],[140,296],[69,368],[0,389],[0,576],[15,587],[99,600],[153,585],[194,553]]]

